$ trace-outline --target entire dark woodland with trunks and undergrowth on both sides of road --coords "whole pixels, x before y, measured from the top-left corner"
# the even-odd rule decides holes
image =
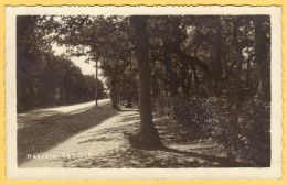
[[[231,156],[269,165],[269,17],[19,17],[20,110],[94,98],[95,79],[53,56],[51,43],[100,63],[113,108],[139,104],[134,146],[162,146],[156,113],[221,143]]]

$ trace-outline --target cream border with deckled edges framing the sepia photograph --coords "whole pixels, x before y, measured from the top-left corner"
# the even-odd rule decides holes
[[[270,14],[272,165],[253,168],[18,168],[15,17],[26,14]],[[279,179],[281,177],[281,8],[280,7],[7,7],[7,178],[8,179]]]

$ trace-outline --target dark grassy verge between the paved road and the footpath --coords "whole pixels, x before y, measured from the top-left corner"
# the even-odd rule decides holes
[[[110,104],[107,104],[82,113],[45,117],[39,123],[20,129],[18,130],[18,163],[23,163],[28,154],[46,151],[117,113],[111,109]]]

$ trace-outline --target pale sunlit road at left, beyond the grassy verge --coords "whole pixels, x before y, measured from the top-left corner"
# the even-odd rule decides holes
[[[98,106],[104,106],[108,104],[110,99],[100,99],[98,100]],[[86,111],[88,109],[92,109],[95,107],[95,101],[84,102],[84,104],[77,104],[72,106],[59,106],[59,107],[52,107],[52,108],[44,108],[44,109],[36,109],[32,111],[28,111],[24,113],[18,113],[17,115],[17,124],[18,129],[23,129],[25,127],[33,126],[38,123],[40,120],[42,120],[45,117],[51,117],[55,115],[75,115],[81,113],[83,111]]]

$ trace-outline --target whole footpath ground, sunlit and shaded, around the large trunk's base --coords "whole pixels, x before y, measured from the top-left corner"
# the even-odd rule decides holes
[[[138,128],[138,111],[119,111],[19,167],[226,167],[246,166],[231,161],[220,146],[205,139],[191,139],[190,131],[169,119],[155,119],[166,150],[129,146],[125,131]]]

